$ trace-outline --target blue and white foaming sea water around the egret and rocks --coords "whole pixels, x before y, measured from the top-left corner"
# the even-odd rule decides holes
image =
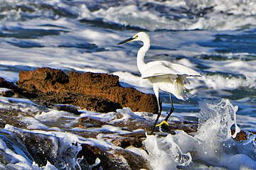
[[[122,86],[132,86],[139,91],[153,94],[151,84],[140,78],[137,69],[137,50],[142,44],[134,42],[117,45],[117,42],[131,37],[138,31],[146,31],[151,38],[146,62],[166,60],[184,64],[201,73],[201,78],[191,79],[191,84],[186,85],[188,101],[178,101],[174,98],[174,116],[184,120],[198,120],[201,129],[194,137],[183,131],[166,137],[148,135],[144,141],[145,147],[149,151],[152,146],[159,150],[152,150],[147,156],[142,150],[131,150],[144,155],[153,169],[175,169],[180,164],[190,164],[193,169],[256,169],[256,147],[253,140],[245,142],[246,145],[242,146],[250,152],[238,154],[235,150],[241,150],[240,145],[234,144],[232,137],[227,136],[228,130],[224,135],[218,134],[218,137],[213,139],[214,127],[207,121],[201,121],[204,116],[208,118],[207,114],[217,112],[218,103],[224,102],[224,106],[232,108],[230,111],[234,113],[225,111],[225,115],[221,116],[235,114],[236,120],[223,126],[230,128],[237,123],[241,130],[256,131],[255,15],[256,2],[253,0],[0,0],[0,77],[16,82],[20,70],[33,70],[38,67],[52,67],[67,72],[102,72],[118,75]],[[170,106],[169,96],[161,93],[160,97],[165,115]],[[23,108],[24,112],[26,109],[33,113],[40,112],[40,108],[31,101],[24,100],[1,97],[1,108]],[[78,121],[78,117],[68,113],[64,114],[66,119],[70,119],[66,127],[50,127],[49,122],[58,120],[60,113],[48,112],[48,116],[45,112],[29,118],[21,116],[21,121],[28,124],[26,129],[6,125],[1,129],[1,134],[27,132],[51,135],[55,140],[63,139],[61,142],[67,146],[74,141],[91,142],[94,145],[98,142],[74,135],[71,127]],[[144,118],[141,113],[131,113],[125,109],[121,112],[128,115],[137,114]],[[104,117],[100,113],[87,114]],[[64,133],[61,128],[68,129],[68,133]],[[105,128],[111,132],[118,131]],[[215,130],[216,128],[220,127],[215,127]],[[100,133],[101,130],[97,132]],[[13,159],[8,159],[10,167],[56,168],[50,163],[40,166],[25,157],[24,153],[11,152],[6,145],[6,139],[1,135],[0,148],[1,152],[12,155]],[[181,140],[186,142],[179,142]],[[209,140],[212,144],[210,147],[207,146]],[[12,142],[16,145],[15,141]],[[198,145],[198,142],[202,145]],[[166,151],[166,148],[170,147],[164,145],[166,143],[171,144],[172,149]],[[109,144],[106,142],[105,145]],[[227,148],[230,147],[224,148],[224,145],[235,147],[229,151]],[[189,154],[191,150],[188,146],[202,152]],[[80,150],[79,147],[73,149],[74,153]],[[174,153],[171,153],[174,150],[183,157],[182,162],[175,159]],[[233,154],[229,154],[230,152]],[[159,155],[168,163],[157,166],[159,159],[156,158]],[[217,161],[220,155],[223,159]],[[18,158],[14,160],[15,157]],[[191,160],[194,163],[191,163]],[[78,168],[79,162],[71,159],[66,161],[73,162],[70,167]],[[4,164],[0,166],[6,167]]]

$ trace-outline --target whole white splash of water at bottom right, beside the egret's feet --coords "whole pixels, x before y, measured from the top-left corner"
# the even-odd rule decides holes
[[[176,130],[176,135],[166,137],[146,135],[144,147],[152,168],[255,169],[255,146],[245,149],[242,142],[233,140],[240,132],[236,111],[238,106],[233,106],[228,99],[218,105],[202,104],[196,134]],[[231,135],[230,128],[234,124],[235,133]]]

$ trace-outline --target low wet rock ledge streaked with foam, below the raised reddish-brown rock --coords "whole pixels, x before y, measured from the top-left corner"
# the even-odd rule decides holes
[[[9,105],[16,106],[15,101]],[[31,104],[28,103],[27,107],[31,107]],[[69,122],[63,120],[62,117],[44,124],[48,127],[59,128],[60,132],[79,135],[79,137],[84,137],[85,140],[88,139],[89,142],[82,145],[76,142],[68,143],[67,145],[67,141],[63,142],[63,137],[55,135],[58,134],[58,131],[49,132],[48,135],[42,134],[41,130],[37,131],[35,129],[33,132],[33,126],[31,127],[29,122],[23,123],[23,117],[20,115],[33,118],[43,112],[47,113],[49,110],[43,106],[35,110],[30,108],[26,111],[23,108],[24,106],[17,106],[12,110],[1,110],[1,128],[8,128],[11,125],[13,127],[9,128],[9,130],[13,133],[9,136],[9,133],[4,134],[4,131],[0,131],[0,135],[8,135],[10,145],[16,145],[16,143],[21,145],[28,159],[31,162],[36,162],[39,166],[46,166],[47,162],[50,162],[58,169],[65,169],[65,165],[70,160],[81,158],[79,164],[81,169],[151,169],[148,160],[130,151],[129,147],[143,149],[142,142],[146,139],[145,132],[151,130],[153,121],[149,123],[144,119],[137,120],[136,115],[133,115],[129,108],[119,109],[115,113],[107,113],[114,115],[112,120],[84,115],[78,119],[78,123],[71,125],[70,128],[65,128],[65,123]],[[130,117],[122,121],[124,118],[122,113],[130,114]],[[172,125],[174,126],[174,124]],[[186,126],[181,122],[176,123],[176,125],[181,129]],[[117,128],[117,132],[108,129],[107,126],[110,126],[111,129]],[[83,130],[76,131],[73,128],[81,128]],[[170,132],[174,132],[174,130],[172,129]],[[122,133],[119,133],[121,131]],[[166,134],[168,133],[164,135]],[[17,141],[13,139],[17,139]],[[91,142],[93,141],[92,139],[100,143],[105,142],[109,146],[95,145],[95,143]],[[14,142],[14,144],[11,144],[11,142]],[[81,147],[78,147],[78,145]],[[4,163],[1,158],[0,163]],[[73,167],[73,169],[79,169],[75,164],[69,164],[68,166]]]

